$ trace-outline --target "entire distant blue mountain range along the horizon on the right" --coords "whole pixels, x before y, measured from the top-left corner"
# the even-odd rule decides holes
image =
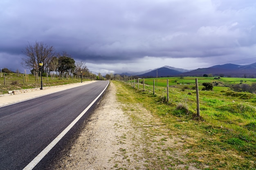
[[[203,76],[204,74],[212,74],[221,77],[256,77],[256,63],[249,65],[223,64],[211,66],[209,68],[198,68],[196,70],[186,70],[171,66],[163,66],[153,70],[143,72],[128,72],[121,75],[138,76],[144,78],[150,77],[175,77],[175,76]]]

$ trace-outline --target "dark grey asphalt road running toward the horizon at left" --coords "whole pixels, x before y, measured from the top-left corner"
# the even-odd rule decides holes
[[[106,89],[108,81],[98,81],[58,93],[0,107],[0,170],[22,170],[69,126]],[[75,133],[79,121],[54,145],[46,156],[30,168],[42,169]],[[74,123],[74,122],[73,122]],[[46,158],[48,157],[48,158]],[[36,158],[38,159],[38,158]],[[33,164],[33,163],[32,163]],[[29,169],[29,168],[27,168]],[[45,168],[44,168],[45,169]]]

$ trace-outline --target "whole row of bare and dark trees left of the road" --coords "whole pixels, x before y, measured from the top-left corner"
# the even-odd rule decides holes
[[[59,76],[65,75],[67,77],[81,74],[86,77],[96,76],[90,73],[85,62],[81,61],[76,63],[67,52],[63,51],[62,53],[57,53],[54,46],[49,46],[43,42],[35,42],[33,45],[29,43],[27,47],[22,50],[22,53],[24,53],[26,57],[22,58],[21,65],[24,68],[30,69],[32,74],[41,71],[42,74],[49,75],[50,72],[54,72]],[[39,62],[43,62],[42,70],[40,70]]]

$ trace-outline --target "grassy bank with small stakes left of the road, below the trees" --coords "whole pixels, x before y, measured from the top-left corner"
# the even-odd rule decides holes
[[[41,77],[36,79],[33,75],[29,75],[28,81],[26,82],[26,78],[24,76],[24,83],[23,83],[23,74],[19,76],[14,73],[10,73],[5,77],[5,84],[4,85],[4,73],[2,73],[2,77],[0,77],[0,95],[7,94],[8,91],[13,90],[20,90],[20,89],[27,89],[27,88],[38,88],[41,87]],[[83,79],[83,81],[89,81],[89,79]],[[79,83],[81,79],[79,78],[65,78],[59,79],[56,77],[55,79],[51,79],[51,77],[43,77],[43,87],[45,86],[57,86],[62,84],[71,84],[71,83]]]

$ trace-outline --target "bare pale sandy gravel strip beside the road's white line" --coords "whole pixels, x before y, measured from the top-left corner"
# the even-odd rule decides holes
[[[135,160],[125,159],[124,152],[132,147],[134,141],[128,137],[131,124],[120,105],[116,100],[115,85],[111,83],[86,128],[56,169],[109,170],[118,166],[129,169],[140,166]]]

